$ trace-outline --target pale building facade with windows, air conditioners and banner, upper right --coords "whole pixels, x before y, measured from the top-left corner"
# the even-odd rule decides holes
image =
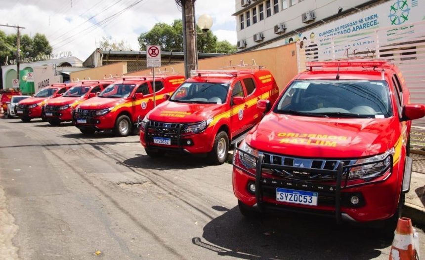
[[[389,4],[390,8],[379,9],[384,3]],[[419,9],[418,5],[419,0],[236,0],[233,15],[236,16],[238,50],[276,47],[303,39],[314,40],[315,37],[329,36],[331,31],[328,30],[337,27],[340,34],[350,33],[347,29],[352,28],[353,24],[344,24],[344,20],[350,22],[352,17],[364,10],[379,9],[376,17],[365,16],[354,20],[359,23],[361,19],[370,21],[365,21],[361,30],[397,24],[400,17],[415,22],[408,19],[408,14],[413,8]],[[387,19],[388,23],[375,21],[378,16]],[[392,21],[391,17],[398,20]],[[334,28],[320,29],[335,22],[338,25]],[[313,35],[305,34],[312,30]]]

